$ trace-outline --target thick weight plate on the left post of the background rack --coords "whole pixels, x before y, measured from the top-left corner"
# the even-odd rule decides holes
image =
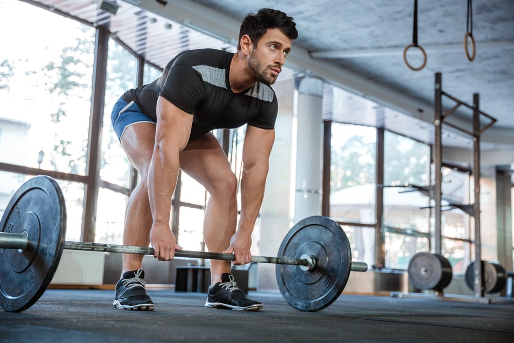
[[[409,280],[420,290],[442,291],[452,279],[452,267],[448,259],[439,254],[418,252],[408,267]]]

